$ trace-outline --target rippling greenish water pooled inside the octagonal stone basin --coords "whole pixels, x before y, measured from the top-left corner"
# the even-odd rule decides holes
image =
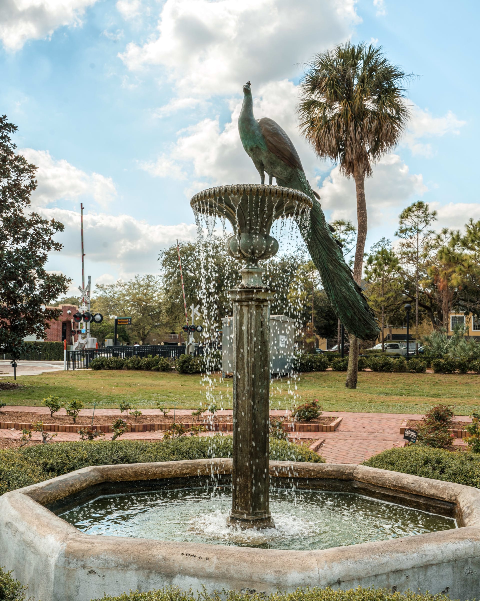
[[[454,519],[352,493],[271,489],[276,528],[226,525],[229,486],[100,496],[60,517],[87,534],[271,549],[328,549],[456,528]]]

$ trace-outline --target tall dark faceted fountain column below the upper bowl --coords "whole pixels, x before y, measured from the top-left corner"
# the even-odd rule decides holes
[[[233,463],[229,523],[274,528],[268,508],[270,297],[263,270],[245,267],[233,301]]]

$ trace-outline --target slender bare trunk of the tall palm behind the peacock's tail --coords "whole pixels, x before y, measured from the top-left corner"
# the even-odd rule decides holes
[[[364,264],[365,240],[367,239],[367,202],[365,201],[365,175],[355,161],[353,166],[356,191],[356,217],[358,229],[356,235],[355,263],[353,264],[353,279],[357,284],[362,281],[362,267]],[[358,381],[358,338],[350,337],[349,367],[347,369],[347,388],[356,388]]]

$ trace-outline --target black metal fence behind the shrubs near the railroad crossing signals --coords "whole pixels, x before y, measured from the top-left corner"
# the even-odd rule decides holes
[[[104,349],[67,350],[67,370],[86,370],[90,362],[97,357],[152,357],[160,355],[175,361],[185,355],[185,345],[170,346],[161,344],[145,344],[143,346],[107,346]],[[203,347],[196,347],[194,355],[203,355]]]

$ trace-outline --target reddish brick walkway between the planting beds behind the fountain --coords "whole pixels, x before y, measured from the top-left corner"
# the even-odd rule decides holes
[[[49,414],[47,407],[21,407],[7,406],[7,411],[33,411],[39,414]],[[65,409],[59,411],[65,415]],[[116,415],[116,409],[96,409],[95,415]],[[158,415],[158,409],[142,409],[146,415]],[[271,415],[285,415],[285,411],[272,411]],[[177,415],[191,415],[191,409],[178,409]],[[218,412],[219,415],[231,415],[231,410]],[[92,409],[82,409],[80,415],[92,415]],[[295,432],[296,438],[325,439],[319,453],[328,463],[362,463],[369,457],[393,447],[403,447],[403,436],[400,434],[400,424],[403,419],[419,419],[422,416],[415,413],[351,413],[325,411],[323,415],[342,417],[336,432]],[[465,416],[458,416],[458,421],[470,421]],[[212,432],[202,433],[211,436]],[[1,438],[19,439],[22,433],[19,430],[0,430]],[[163,432],[127,432],[121,440],[158,441]],[[112,435],[106,435],[106,439]],[[41,440],[39,433],[32,435],[33,440]],[[79,436],[73,433],[58,433],[55,441],[77,441]],[[457,441],[460,442],[460,441]]]

